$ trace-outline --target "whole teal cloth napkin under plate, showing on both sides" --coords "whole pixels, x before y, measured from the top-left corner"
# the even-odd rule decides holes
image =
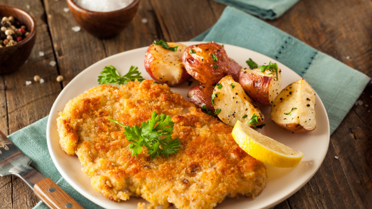
[[[245,47],[274,58],[287,65],[318,93],[327,109],[331,133],[358,99],[370,78],[327,56],[285,32],[227,7],[216,25],[193,41],[216,41]],[[247,57],[248,58],[248,57]],[[12,133],[10,140],[32,159],[32,166],[50,177],[84,208],[101,208],[76,192],[61,177],[48,152],[46,124],[48,116]],[[35,208],[47,208],[38,203]]]

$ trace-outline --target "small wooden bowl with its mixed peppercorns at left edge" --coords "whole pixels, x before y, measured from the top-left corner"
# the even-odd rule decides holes
[[[36,22],[27,12],[0,5],[0,75],[17,71],[31,54]]]

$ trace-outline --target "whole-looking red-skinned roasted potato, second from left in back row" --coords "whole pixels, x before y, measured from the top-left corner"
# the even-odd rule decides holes
[[[200,43],[185,49],[182,56],[187,72],[196,80],[214,85],[229,72],[229,57],[217,43]]]

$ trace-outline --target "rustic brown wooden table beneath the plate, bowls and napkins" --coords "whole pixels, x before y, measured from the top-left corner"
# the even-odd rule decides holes
[[[0,90],[0,129],[8,134],[48,115],[63,87],[86,67],[154,40],[188,41],[214,25],[225,8],[211,0],[141,0],[132,24],[116,38],[101,40],[71,29],[76,22],[63,11],[68,8],[63,0],[0,3],[29,12],[38,30],[28,63],[0,76],[0,85],[8,87]],[[267,22],[371,77],[371,11],[370,0],[301,0],[279,19]],[[51,66],[50,61],[57,64]],[[35,75],[45,83],[26,86]],[[65,78],[63,83],[56,82],[58,75]],[[276,208],[372,208],[371,84],[359,100],[363,104],[353,106],[331,135],[316,175]],[[32,208],[39,201],[17,177],[0,177],[0,194],[0,208]]]

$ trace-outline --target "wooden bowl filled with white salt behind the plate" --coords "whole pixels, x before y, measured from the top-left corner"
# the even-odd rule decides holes
[[[72,17],[83,30],[112,38],[133,20],[140,0],[67,0]]]

